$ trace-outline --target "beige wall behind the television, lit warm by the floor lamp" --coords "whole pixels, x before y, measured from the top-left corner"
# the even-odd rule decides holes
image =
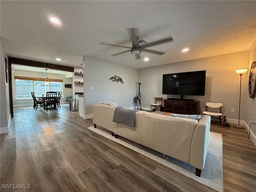
[[[176,72],[206,70],[205,96],[184,96],[200,100],[200,112],[205,110],[205,102],[223,103],[222,112],[229,119],[238,120],[240,76],[236,69],[248,67],[248,51],[220,56],[189,60],[138,70],[138,81],[141,82],[142,106],[150,108],[154,97],[167,98],[162,94],[162,75]],[[247,79],[242,78],[242,100],[247,92]],[[231,113],[231,109],[235,112]],[[241,114],[245,119],[244,113]]]

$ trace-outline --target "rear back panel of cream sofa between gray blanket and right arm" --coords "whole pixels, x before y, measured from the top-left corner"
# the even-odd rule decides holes
[[[190,145],[198,120],[154,113],[140,116],[140,144],[190,162]]]

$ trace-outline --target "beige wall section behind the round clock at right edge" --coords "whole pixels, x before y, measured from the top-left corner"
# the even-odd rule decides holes
[[[242,109],[242,113],[245,114],[244,121],[246,122],[247,126],[250,126],[251,119],[256,120],[256,97],[250,98],[248,94],[248,80],[249,80],[249,71],[252,65],[252,62],[256,61],[256,40],[252,44],[249,50],[249,59],[248,59],[248,73],[246,79],[246,93],[245,95],[245,104],[244,108]],[[251,138],[256,145],[256,126],[251,125]]]

